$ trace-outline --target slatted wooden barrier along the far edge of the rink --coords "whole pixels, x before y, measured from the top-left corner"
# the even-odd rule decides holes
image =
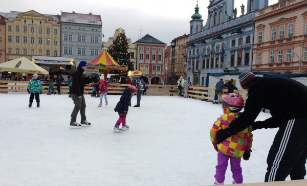
[[[0,80],[0,92],[7,93],[9,91],[14,92],[26,92],[29,81],[5,81]],[[48,93],[49,85],[47,82],[41,82],[42,84],[42,94]],[[115,90],[108,87],[108,94],[110,95],[121,95],[126,87],[130,84],[120,84],[120,83],[110,83],[114,86]],[[85,94],[92,94],[93,87],[84,87]],[[56,90],[56,82],[54,82],[54,90]],[[67,94],[69,92],[69,87],[67,83],[62,82],[61,84],[61,93]],[[221,96],[226,94],[227,89],[222,89],[219,94],[219,101],[221,102]],[[244,99],[246,99],[246,91],[245,90],[234,90],[238,94],[242,95]],[[215,94],[215,88],[211,87],[200,87],[190,85],[188,90],[188,97],[193,99],[198,99],[202,101],[213,101]],[[146,95],[148,96],[178,96],[179,91],[177,85],[160,85],[160,84],[149,84],[147,85]],[[184,89],[182,89],[182,96],[184,95]]]

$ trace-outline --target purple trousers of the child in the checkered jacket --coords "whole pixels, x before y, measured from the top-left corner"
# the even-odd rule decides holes
[[[231,157],[220,150],[217,151],[217,166],[215,166],[215,179],[219,183],[223,183],[225,180],[225,173],[228,166],[228,160],[230,159],[230,170],[232,172],[232,178],[236,183],[243,183],[243,175],[241,168],[241,158]]]

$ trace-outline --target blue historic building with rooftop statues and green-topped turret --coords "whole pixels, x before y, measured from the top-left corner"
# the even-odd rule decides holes
[[[247,71],[252,66],[255,10],[268,0],[248,0],[234,8],[234,0],[209,1],[203,26],[196,5],[187,41],[187,77],[192,84],[206,85],[208,73]],[[245,13],[246,12],[246,13]]]

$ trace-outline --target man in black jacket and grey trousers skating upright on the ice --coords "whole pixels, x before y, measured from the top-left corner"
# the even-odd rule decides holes
[[[84,75],[83,72],[87,69],[87,64],[85,61],[81,61],[77,69],[74,70],[72,75],[72,91],[71,96],[74,101],[75,107],[71,114],[71,129],[79,129],[81,127],[91,127],[91,123],[86,121],[85,116],[85,99],[84,99]],[[81,124],[77,123],[77,114],[80,111],[81,114]]]

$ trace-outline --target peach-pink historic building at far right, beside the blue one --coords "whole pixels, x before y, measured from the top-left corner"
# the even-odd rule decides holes
[[[307,73],[307,1],[279,0],[253,20],[252,71]]]

